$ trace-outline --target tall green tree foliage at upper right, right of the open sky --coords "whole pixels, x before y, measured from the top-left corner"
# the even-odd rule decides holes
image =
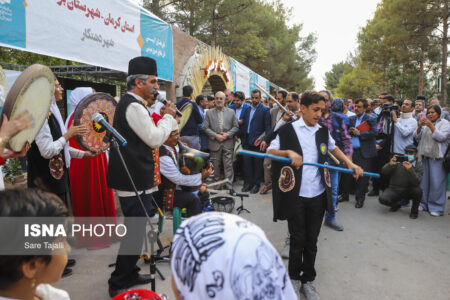
[[[442,55],[445,34],[439,28],[446,1],[382,0],[358,35],[356,68],[340,78],[338,91],[369,96],[372,88],[364,84],[374,81],[381,88],[377,93],[387,91],[400,98],[434,95],[436,73],[446,59]],[[356,74],[363,79],[355,78]]]

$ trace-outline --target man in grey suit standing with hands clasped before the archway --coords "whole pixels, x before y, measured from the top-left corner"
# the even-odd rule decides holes
[[[234,111],[225,107],[225,94],[217,92],[216,107],[206,112],[205,133],[209,136],[209,150],[214,164],[214,176],[220,178],[220,167],[223,163],[226,184],[231,193],[233,190],[233,150],[234,135],[239,131],[239,124]]]

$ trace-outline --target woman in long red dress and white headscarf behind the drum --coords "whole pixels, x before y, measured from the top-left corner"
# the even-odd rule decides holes
[[[75,109],[88,95],[90,87],[76,88],[70,94],[70,103]],[[73,114],[67,119],[67,126],[73,122]],[[69,140],[70,147],[82,149],[75,138]],[[72,209],[75,217],[115,217],[116,208],[112,189],[107,187],[106,174],[108,160],[105,153],[95,157],[72,159],[70,165],[70,190],[72,193]],[[107,238],[77,239],[77,246],[88,249],[101,249],[111,245]]]

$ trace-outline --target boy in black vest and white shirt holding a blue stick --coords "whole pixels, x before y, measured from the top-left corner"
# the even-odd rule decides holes
[[[317,239],[325,210],[334,215],[331,182],[326,169],[303,162],[324,163],[330,151],[355,170],[355,177],[361,176],[363,170],[335,146],[328,128],[318,124],[325,98],[309,91],[302,95],[300,103],[302,117],[282,127],[268,148],[269,154],[290,158],[292,165],[272,162],[274,220],[288,222],[291,239],[288,269],[294,289],[306,299],[319,299],[312,281],[316,277]]]

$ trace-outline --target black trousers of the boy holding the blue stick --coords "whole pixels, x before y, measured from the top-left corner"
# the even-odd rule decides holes
[[[302,283],[316,278],[314,264],[317,254],[317,238],[326,207],[326,194],[314,198],[298,197],[288,218],[290,234],[289,276]]]

